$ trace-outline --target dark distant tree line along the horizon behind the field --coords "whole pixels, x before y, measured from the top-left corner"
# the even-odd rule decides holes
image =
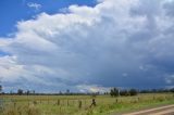
[[[80,92],[70,92],[67,89],[65,92],[59,92],[59,93],[37,93],[35,90],[23,90],[23,89],[17,89],[16,92],[10,91],[9,93],[2,92],[2,85],[0,85],[0,93],[1,94],[17,94],[17,95],[99,95],[99,94],[110,94],[111,97],[119,97],[119,95],[137,95],[138,93],[162,93],[162,92],[173,92],[174,93],[174,88],[171,89],[144,89],[144,90],[137,90],[137,89],[122,89],[120,90],[119,88],[111,88],[110,92],[87,92],[87,93],[80,93]]]

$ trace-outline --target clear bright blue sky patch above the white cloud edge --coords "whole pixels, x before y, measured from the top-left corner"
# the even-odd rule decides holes
[[[16,31],[16,23],[32,20],[39,13],[55,14],[71,4],[94,7],[95,0],[1,0],[0,36]]]

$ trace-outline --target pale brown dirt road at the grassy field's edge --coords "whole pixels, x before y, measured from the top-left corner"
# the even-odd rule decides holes
[[[174,104],[144,110],[139,112],[127,113],[123,115],[174,115]]]

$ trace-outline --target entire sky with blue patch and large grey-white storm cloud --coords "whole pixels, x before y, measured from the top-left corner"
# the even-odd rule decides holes
[[[1,0],[4,91],[174,87],[174,0]]]

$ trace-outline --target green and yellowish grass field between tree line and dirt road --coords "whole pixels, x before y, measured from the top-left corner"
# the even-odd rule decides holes
[[[163,104],[174,104],[173,93],[136,97],[91,95],[0,95],[0,115],[110,115]],[[2,105],[3,104],[3,105]]]

